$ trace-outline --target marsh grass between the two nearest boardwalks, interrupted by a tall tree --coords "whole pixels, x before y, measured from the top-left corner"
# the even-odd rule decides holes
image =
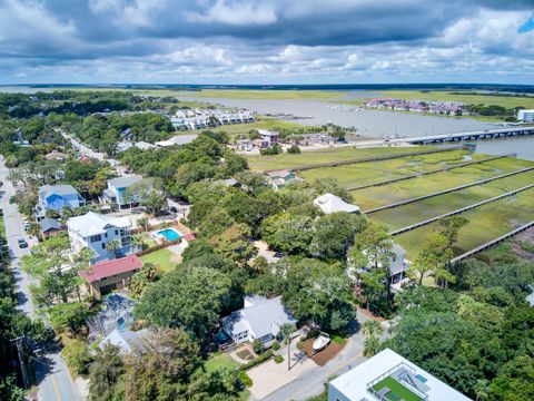
[[[477,207],[463,213],[462,216],[466,217],[469,223],[459,232],[455,248],[456,255],[533,221],[534,189]],[[395,237],[406,248],[409,260],[417,256],[422,239],[431,233],[433,227],[434,225],[429,224]]]

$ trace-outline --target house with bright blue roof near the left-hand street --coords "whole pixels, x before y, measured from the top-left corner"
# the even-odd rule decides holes
[[[44,218],[47,211],[61,214],[63,207],[78,208],[86,200],[71,185],[43,185],[39,188],[37,200],[37,221]]]

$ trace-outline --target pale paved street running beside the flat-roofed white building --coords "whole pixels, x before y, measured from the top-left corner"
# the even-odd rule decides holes
[[[363,324],[367,319],[367,316],[358,312],[357,325]],[[328,378],[348,372],[365,361],[363,355],[364,340],[364,335],[357,332],[350,338],[345,349],[325,366],[316,366],[306,372],[301,378],[267,395],[261,401],[307,400],[310,397],[320,394]]]

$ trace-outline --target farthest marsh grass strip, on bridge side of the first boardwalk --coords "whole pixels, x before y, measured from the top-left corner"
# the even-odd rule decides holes
[[[288,167],[305,166],[315,163],[328,163],[364,158],[383,155],[400,155],[417,150],[431,149],[432,147],[379,147],[379,148],[326,148],[314,151],[303,151],[298,155],[288,153],[274,156],[247,156],[248,165],[254,170],[283,169]],[[363,165],[358,165],[363,166]]]

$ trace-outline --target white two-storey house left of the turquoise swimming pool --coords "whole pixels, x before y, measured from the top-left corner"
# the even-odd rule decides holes
[[[72,252],[78,253],[85,247],[92,250],[92,263],[112,260],[132,252],[131,222],[128,217],[113,217],[89,212],[67,221],[67,229]],[[117,250],[108,250],[111,241],[117,241]]]

